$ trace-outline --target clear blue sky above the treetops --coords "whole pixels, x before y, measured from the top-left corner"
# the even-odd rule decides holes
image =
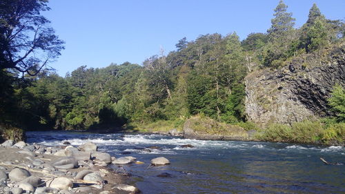
[[[59,75],[79,66],[100,68],[175,50],[179,39],[199,35],[266,32],[279,0],[50,0],[52,10],[43,12],[66,41],[66,49],[50,64]],[[285,0],[296,26],[306,22],[317,3],[328,19],[344,19],[344,0]]]

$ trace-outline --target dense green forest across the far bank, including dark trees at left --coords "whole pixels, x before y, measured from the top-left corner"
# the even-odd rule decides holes
[[[6,65],[12,60],[11,55],[21,54],[21,48],[15,48],[17,42],[8,41],[4,4],[1,3],[0,124],[5,138],[15,136],[19,133],[16,130],[181,130],[186,119],[195,115],[246,130],[257,129],[260,127],[248,121],[244,108],[244,78],[249,73],[279,70],[296,57],[321,59],[333,48],[345,48],[344,21],[327,19],[314,4],[306,23],[294,28],[293,14],[279,1],[265,33],[253,32],[244,40],[236,32],[199,35],[191,41],[184,37],[176,43],[176,50],[166,53],[161,48],[142,64],[80,66],[61,77],[50,68],[23,65],[24,61],[21,65]],[[48,8],[44,3],[39,6]],[[39,10],[30,14],[38,16]],[[42,41],[49,40],[50,45],[44,46],[43,42],[37,47],[58,57],[63,41],[49,29],[45,33]],[[47,61],[40,62],[46,67]],[[328,104],[332,113],[317,122],[324,130],[332,128],[327,132],[331,135],[328,139],[344,140],[344,85],[334,86]],[[291,130],[293,126],[274,128]],[[262,139],[290,138],[277,136],[266,135]]]

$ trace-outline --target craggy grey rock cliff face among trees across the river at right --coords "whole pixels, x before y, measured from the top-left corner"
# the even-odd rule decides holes
[[[327,98],[336,83],[345,86],[345,46],[251,72],[245,83],[247,119],[261,126],[331,115]]]

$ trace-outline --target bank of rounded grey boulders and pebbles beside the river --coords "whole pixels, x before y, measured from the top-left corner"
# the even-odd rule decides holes
[[[0,193],[139,193],[126,173],[109,164],[134,157],[111,157],[91,142],[75,147],[43,146],[8,140],[0,146]],[[154,165],[154,164],[152,164]]]

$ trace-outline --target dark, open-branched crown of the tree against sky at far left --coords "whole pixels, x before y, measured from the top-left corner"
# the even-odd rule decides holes
[[[37,75],[61,55],[63,41],[48,26],[50,21],[40,15],[41,11],[50,10],[47,3],[48,0],[1,0],[0,69]]]

